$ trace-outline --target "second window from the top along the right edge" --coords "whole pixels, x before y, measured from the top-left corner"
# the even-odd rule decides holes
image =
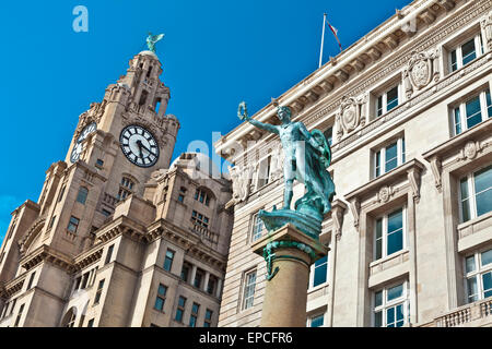
[[[455,135],[492,117],[490,89],[487,88],[476,96],[453,108],[452,119]]]

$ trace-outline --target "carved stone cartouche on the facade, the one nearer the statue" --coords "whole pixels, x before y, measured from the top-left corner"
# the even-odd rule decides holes
[[[359,125],[365,125],[365,117],[362,115],[362,106],[365,104],[365,96],[359,98],[343,96],[340,105],[340,111],[337,115],[337,121],[341,128],[338,128],[338,139],[343,134],[355,130]]]

